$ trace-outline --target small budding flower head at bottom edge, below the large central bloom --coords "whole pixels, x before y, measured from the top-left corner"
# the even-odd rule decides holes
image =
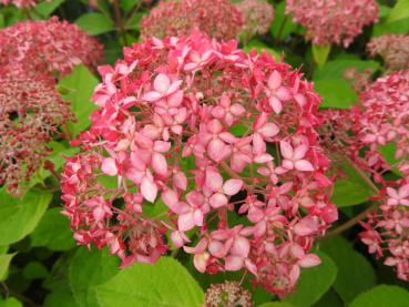
[[[252,294],[236,282],[212,284],[205,293],[204,307],[253,307]]]

